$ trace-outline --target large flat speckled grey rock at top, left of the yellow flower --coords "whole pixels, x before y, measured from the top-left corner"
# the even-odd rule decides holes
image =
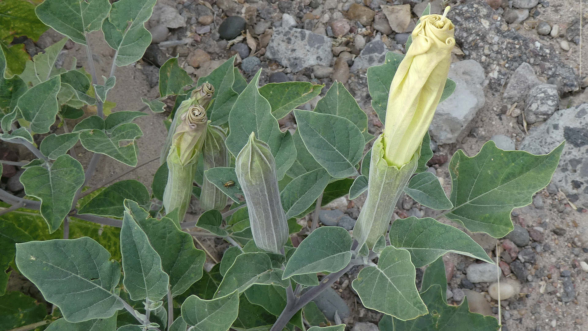
[[[275,28],[265,56],[298,72],[313,65],[329,66],[333,59],[328,37],[297,28]]]

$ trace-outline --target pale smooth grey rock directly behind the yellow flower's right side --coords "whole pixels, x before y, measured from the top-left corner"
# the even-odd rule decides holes
[[[484,68],[468,59],[455,62],[449,69],[449,78],[455,81],[455,92],[439,102],[429,130],[431,138],[439,144],[455,143],[456,138],[470,123],[486,102]]]

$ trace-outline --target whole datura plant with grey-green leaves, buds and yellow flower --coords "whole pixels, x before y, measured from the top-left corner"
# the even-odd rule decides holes
[[[29,9],[19,13],[32,14],[29,2],[5,2],[21,2]],[[563,144],[545,155],[500,150],[492,141],[472,157],[458,150],[447,167],[446,195],[426,170],[433,155],[427,128],[437,103],[456,88],[447,79],[455,44],[447,12],[428,15],[427,8],[406,55],[388,52],[382,65],[368,68],[372,107],[385,124],[377,139],[340,82],[312,111],[303,110],[296,108],[316,100],[325,85],[259,87],[262,69],[247,82],[236,57],[194,84],[178,58],[168,59],[159,70],[160,97],[143,99],[151,111],[173,114],[163,121],[171,125],[160,166],[141,181],[112,183],[93,178],[99,160],[136,167],[135,140],[143,133],[132,122],[147,114],[110,113],[108,91],[115,68],[139,61],[149,46],[143,23],[156,1],[88,0],[83,10],[65,2],[36,7],[41,22],[67,38],[28,60],[21,74],[6,78],[7,68],[12,75],[18,66],[0,47],[0,95],[8,100],[0,100],[0,139],[34,155],[0,163],[6,173],[14,164],[24,169],[19,181],[26,194],[0,188],[4,329],[51,323],[47,331],[343,331],[343,312],[325,316],[312,301],[353,267],[360,271],[350,286],[363,307],[383,313],[381,331],[499,329],[493,316],[470,313],[465,301],[447,304],[443,254],[495,262],[464,231],[437,219],[506,236],[511,211],[547,186]],[[89,73],[74,60],[69,70],[55,67],[68,38],[91,54],[86,36],[98,30],[115,49],[110,77],[96,77],[92,57]],[[85,115],[92,109],[95,115]],[[296,124],[280,130],[278,120],[290,113]],[[70,156],[80,153],[93,153],[88,164]],[[112,184],[84,189],[84,183]],[[349,219],[320,226],[321,207],[365,191],[352,231]],[[437,217],[390,224],[403,193],[438,210]],[[188,206],[193,213],[186,214]],[[11,272],[31,280],[52,306],[6,292]]]

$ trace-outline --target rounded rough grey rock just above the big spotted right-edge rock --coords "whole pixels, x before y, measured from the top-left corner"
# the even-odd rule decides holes
[[[557,86],[540,84],[533,87],[524,102],[524,117],[527,123],[545,121],[559,109]]]

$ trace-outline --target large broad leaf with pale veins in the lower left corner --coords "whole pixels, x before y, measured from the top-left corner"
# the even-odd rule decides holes
[[[72,323],[108,318],[122,309],[113,294],[121,266],[95,240],[54,239],[16,244],[18,270]]]

